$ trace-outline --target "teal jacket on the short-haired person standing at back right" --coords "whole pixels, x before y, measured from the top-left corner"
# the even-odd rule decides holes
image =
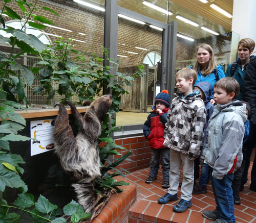
[[[250,56],[250,60],[252,58],[254,58],[253,55]],[[240,58],[237,59],[237,67],[236,67],[236,70],[234,71],[234,75],[233,75],[233,78],[236,79],[240,85],[240,94],[237,96],[237,100],[242,100],[242,98],[243,98],[244,74],[245,74],[247,65],[248,64],[244,65],[244,69],[242,69],[241,59]],[[231,63],[228,64],[227,70],[225,72],[226,77],[231,77],[231,74],[230,74],[231,67],[232,67],[232,64]]]

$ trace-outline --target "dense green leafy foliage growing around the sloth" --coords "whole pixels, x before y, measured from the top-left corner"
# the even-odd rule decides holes
[[[8,7],[9,3],[17,4],[23,12],[24,19]],[[27,0],[3,0],[1,5],[3,7],[0,9],[0,23],[2,24],[0,30],[11,36],[7,38],[0,35],[0,43],[8,42],[11,45],[11,51],[10,54],[0,51],[0,192],[3,192],[3,198],[0,199],[0,221],[19,222],[20,215],[14,212],[14,209],[29,213],[33,222],[66,222],[65,218],[59,217],[62,214],[71,215],[72,222],[90,218],[90,214],[84,213],[75,201],[71,201],[63,209],[58,209],[46,197],[40,195],[35,201],[34,195],[28,193],[27,185],[20,178],[20,175],[24,174],[24,169],[19,165],[25,162],[21,156],[11,153],[9,144],[10,141],[30,140],[18,134],[25,128],[26,120],[15,110],[28,108],[29,101],[24,89],[27,86],[32,88],[35,78],[38,78],[40,84],[34,88],[34,94],[46,94],[49,101],[58,94],[61,96],[62,103],[76,96],[78,105],[81,105],[84,100],[93,100],[95,96],[100,95],[103,86],[108,86],[112,89],[113,103],[110,114],[113,115],[119,111],[121,94],[128,93],[124,90],[124,85],[130,86],[136,77],[142,76],[143,66],[139,66],[139,70],[134,75],[125,76],[117,71],[118,62],[108,58],[108,51],[103,49],[103,54],[116,69],[116,75],[113,77],[109,75],[110,67],[102,66],[102,58],[95,55],[88,58],[75,51],[72,40],[60,38],[53,45],[46,46],[34,35],[25,33],[26,26],[44,30],[46,26],[42,23],[53,24],[47,18],[36,15],[40,9],[58,16],[58,13],[52,9],[38,5],[38,0],[35,0],[33,4]],[[22,28],[15,29],[6,26],[4,14],[19,21]],[[18,53],[15,53],[15,49],[19,49]],[[40,58],[40,61],[32,68],[17,63],[17,58],[26,53],[38,55]],[[56,83],[58,87],[53,88],[53,83]],[[121,156],[116,151],[116,149],[125,150],[125,148],[115,144],[111,137],[111,134],[119,129],[115,126],[114,119],[106,116],[102,128],[102,135],[99,138],[99,143],[103,143],[103,146],[99,147],[102,178],[96,182],[96,192],[100,193],[101,188],[122,191],[119,186],[126,185],[126,183],[116,182],[113,177],[123,174],[122,171],[116,169],[116,166],[131,152]],[[111,161],[110,155],[118,155],[120,158]],[[109,170],[113,173],[111,174]],[[8,204],[4,199],[6,187],[18,188],[20,191],[13,205]]]

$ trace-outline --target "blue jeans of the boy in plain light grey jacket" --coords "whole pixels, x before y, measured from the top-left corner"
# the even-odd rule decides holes
[[[228,223],[236,222],[234,217],[233,191],[231,187],[234,174],[227,174],[221,180],[211,177],[211,187],[214,191],[216,209],[221,219]]]

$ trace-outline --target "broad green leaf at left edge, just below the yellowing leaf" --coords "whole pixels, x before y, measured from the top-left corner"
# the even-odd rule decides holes
[[[6,186],[18,188],[25,186],[25,183],[20,179],[16,172],[8,170],[0,164],[0,191],[4,191]]]

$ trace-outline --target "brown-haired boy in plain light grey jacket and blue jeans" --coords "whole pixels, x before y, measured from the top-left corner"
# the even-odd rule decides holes
[[[238,100],[239,83],[230,77],[222,78],[214,85],[216,106],[208,126],[208,150],[205,162],[213,168],[211,186],[216,210],[203,211],[212,222],[236,222],[231,183],[242,163],[244,122],[246,106]]]

